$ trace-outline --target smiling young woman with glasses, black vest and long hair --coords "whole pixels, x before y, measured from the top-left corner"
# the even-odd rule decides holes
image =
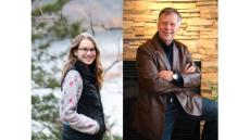
[[[101,140],[105,131],[100,97],[100,51],[92,36],[78,35],[62,72],[60,118],[63,140]]]

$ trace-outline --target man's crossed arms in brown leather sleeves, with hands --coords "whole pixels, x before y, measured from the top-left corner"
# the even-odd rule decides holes
[[[200,85],[200,71],[192,63],[188,51],[185,52],[183,69],[179,69],[179,75],[183,78],[183,85],[178,86],[173,82],[173,73],[167,71],[163,63],[160,64],[158,53],[150,52],[145,48],[137,50],[137,73],[139,86],[145,88],[145,91],[152,94],[163,94],[173,91],[182,91],[183,87],[196,87]],[[179,61],[182,62],[182,61]]]

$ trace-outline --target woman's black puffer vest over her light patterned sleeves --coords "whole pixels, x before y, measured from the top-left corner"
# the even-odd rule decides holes
[[[64,125],[63,135],[72,140],[102,140],[103,133],[105,131],[105,124],[101,96],[96,82],[96,76],[93,73],[91,73],[87,65],[78,61],[74,67],[72,67],[72,69],[77,71],[83,79],[83,91],[77,103],[77,113],[84,114],[97,120],[100,129],[96,135],[88,135]]]

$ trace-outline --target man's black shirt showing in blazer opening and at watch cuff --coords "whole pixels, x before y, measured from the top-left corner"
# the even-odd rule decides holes
[[[162,49],[164,50],[165,54],[166,54],[166,59],[168,60],[170,64],[171,64],[171,69],[173,69],[173,46],[174,46],[174,41],[172,41],[170,44],[166,44],[165,42],[163,42],[159,35],[158,35],[158,39],[159,42],[161,43]],[[177,79],[174,80],[178,86],[183,86],[184,85],[184,80],[183,80],[183,76],[180,75],[179,72],[173,72],[177,74]]]

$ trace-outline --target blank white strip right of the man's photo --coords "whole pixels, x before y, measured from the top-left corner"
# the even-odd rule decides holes
[[[218,0],[220,140],[249,140],[250,13],[248,0]]]

